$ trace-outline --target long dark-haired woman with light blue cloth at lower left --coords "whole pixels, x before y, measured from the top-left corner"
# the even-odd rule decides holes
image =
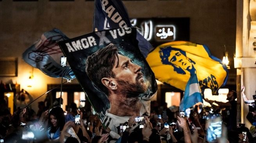
[[[61,107],[54,107],[48,115],[47,137],[50,140],[58,140],[60,131],[65,124],[65,116]]]

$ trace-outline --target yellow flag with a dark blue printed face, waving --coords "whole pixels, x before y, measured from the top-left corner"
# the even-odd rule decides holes
[[[187,41],[168,42],[150,52],[147,62],[156,79],[183,91],[195,71],[201,88],[209,87],[213,93],[227,82],[226,65],[212,56],[206,45]]]

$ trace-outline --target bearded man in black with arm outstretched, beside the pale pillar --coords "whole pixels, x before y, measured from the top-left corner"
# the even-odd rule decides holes
[[[212,101],[212,100],[209,100],[209,99],[204,99],[206,102],[210,103],[211,105],[213,103],[217,103],[219,106],[220,106],[220,109],[222,108],[226,108],[225,113],[226,115],[223,115],[223,121],[227,124],[227,129],[228,130],[235,130],[236,129],[236,115],[237,115],[237,103],[235,101],[236,99],[236,91],[229,91],[228,94],[227,94],[227,102],[226,103],[223,103],[223,102],[219,102],[219,101]]]

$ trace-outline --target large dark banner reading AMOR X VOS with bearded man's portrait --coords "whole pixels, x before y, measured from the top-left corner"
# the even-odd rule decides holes
[[[59,42],[98,117],[116,133],[131,115],[150,115],[157,91],[136,35],[136,28],[120,28]]]

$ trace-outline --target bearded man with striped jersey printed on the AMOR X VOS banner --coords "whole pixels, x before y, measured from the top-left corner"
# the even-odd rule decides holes
[[[141,66],[122,55],[115,44],[109,44],[89,56],[86,73],[97,90],[104,92],[109,99],[110,108],[102,121],[115,133],[118,133],[116,127],[127,122],[130,116],[150,115],[149,98],[153,96],[139,96],[147,92]]]

